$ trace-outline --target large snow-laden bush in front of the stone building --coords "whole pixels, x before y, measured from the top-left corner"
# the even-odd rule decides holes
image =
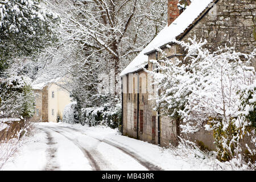
[[[251,138],[245,143],[253,147],[247,147],[250,155],[256,155],[255,70],[247,66],[256,49],[247,55],[232,47],[210,52],[203,48],[207,41],[196,42],[196,38],[175,43],[187,51],[183,60],[170,60],[159,49],[161,59],[151,61],[155,69],[149,73],[160,90],[155,109],[181,119],[183,133],[212,130],[220,160],[243,161],[245,135]]]

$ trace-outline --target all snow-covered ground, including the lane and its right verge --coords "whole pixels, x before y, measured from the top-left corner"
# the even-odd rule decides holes
[[[109,127],[35,123],[36,131],[2,170],[231,170],[228,163],[122,136]]]

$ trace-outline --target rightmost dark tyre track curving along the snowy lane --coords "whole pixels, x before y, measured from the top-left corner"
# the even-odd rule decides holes
[[[65,128],[65,129],[70,129],[70,130],[73,130],[73,131],[76,131],[78,133],[81,133],[81,134],[84,134],[86,135],[85,133],[82,133],[82,131],[79,131],[77,129],[73,129],[73,128],[69,128],[69,127],[63,127],[63,126],[60,126],[61,128]],[[142,166],[144,166],[145,168],[147,168],[149,171],[163,171],[163,169],[161,167],[158,167],[156,166],[155,164],[152,164],[151,162],[148,162],[148,160],[146,159],[143,159],[141,156],[139,156],[138,154],[136,154],[135,152],[125,148],[125,147],[122,147],[122,146],[119,146],[118,144],[115,144],[113,142],[110,142],[109,140],[101,140],[101,139],[98,139],[98,138],[95,138],[95,137],[91,137],[89,135],[86,135],[90,138],[94,138],[100,142],[104,142],[106,144],[109,144],[110,146],[112,147],[115,147],[115,148],[118,148],[119,150],[121,150],[123,153],[131,156],[133,159],[137,160],[137,162],[139,164],[141,164]]]

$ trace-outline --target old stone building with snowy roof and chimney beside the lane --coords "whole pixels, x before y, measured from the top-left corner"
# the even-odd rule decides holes
[[[184,1],[183,1],[184,2]],[[236,51],[250,53],[255,49],[254,0],[193,0],[187,1],[186,9],[179,9],[179,0],[168,0],[168,25],[146,48],[121,72],[123,134],[150,143],[167,146],[176,142],[179,123],[153,110],[156,89],[152,78],[143,68],[152,70],[149,60],[157,60],[156,51],[162,48],[169,58],[183,59],[185,52],[172,40],[183,40],[196,35],[197,40],[206,39],[208,49],[232,46]],[[168,48],[167,48],[167,45]],[[252,63],[256,67],[255,60]],[[214,148],[213,137],[205,130],[191,136]]]

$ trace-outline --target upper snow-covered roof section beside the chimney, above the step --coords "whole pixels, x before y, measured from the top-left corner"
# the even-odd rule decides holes
[[[155,51],[155,49],[175,40],[176,37],[182,34],[212,2],[213,0],[194,0],[191,5],[189,5],[187,9],[185,9],[185,11],[170,24],[170,26],[168,26],[168,28],[164,28],[159,32],[155,39],[148,44],[145,53],[147,54]]]

